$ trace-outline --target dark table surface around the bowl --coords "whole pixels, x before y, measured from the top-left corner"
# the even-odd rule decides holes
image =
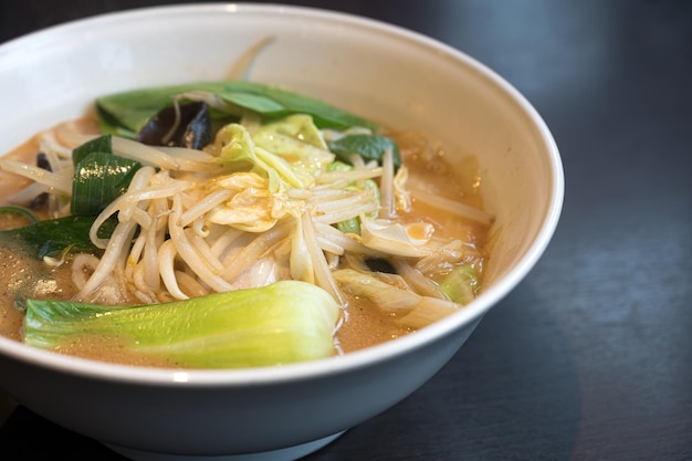
[[[1,0],[0,41],[160,3]],[[543,115],[566,176],[525,281],[434,378],[306,460],[692,460],[692,2],[285,3],[484,62]],[[0,459],[122,458],[0,391]]]

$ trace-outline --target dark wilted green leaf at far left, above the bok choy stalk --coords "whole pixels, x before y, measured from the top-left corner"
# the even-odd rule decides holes
[[[0,231],[0,243],[9,242],[4,239],[14,239],[28,245],[32,256],[42,259],[55,254],[63,254],[67,251],[96,251],[88,232],[94,223],[95,217],[70,216],[65,218],[36,221],[18,229]],[[98,230],[102,238],[107,238],[113,233],[116,220],[107,220]]]

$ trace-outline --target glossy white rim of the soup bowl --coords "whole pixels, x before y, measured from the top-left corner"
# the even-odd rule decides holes
[[[174,368],[147,368],[129,365],[117,365],[97,362],[93,359],[72,357],[57,353],[29,347],[7,337],[0,337],[0,354],[13,360],[50,368],[66,375],[76,375],[92,379],[118,381],[132,385],[150,386],[247,386],[269,385],[322,377],[333,374],[346,373],[354,368],[377,365],[396,356],[406,355],[415,349],[422,348],[448,335],[453,335],[461,327],[482,318],[487,311],[513,291],[521,281],[534,268],[545,252],[559,220],[564,200],[564,170],[559,151],[555,139],[544,119],[533,105],[513,85],[500,76],[485,64],[471,57],[464,52],[452,48],[437,39],[422,33],[405,29],[399,25],[387,23],[377,19],[365,18],[347,12],[326,10],[314,7],[287,6],[281,3],[181,3],[164,4],[154,7],[140,7],[127,10],[105,12],[82,19],[76,19],[60,24],[51,25],[35,32],[21,35],[8,42],[0,43],[0,60],[3,54],[13,49],[31,46],[50,40],[53,35],[70,34],[85,28],[102,28],[109,23],[122,23],[135,18],[166,15],[185,17],[195,12],[197,14],[271,14],[286,18],[310,18],[312,20],[338,21],[352,28],[365,28],[377,31],[380,34],[396,36],[427,46],[432,51],[441,52],[449,59],[463,62],[475,70],[484,80],[510,97],[522,112],[532,121],[538,129],[542,143],[548,153],[549,163],[549,200],[544,210],[542,226],[524,256],[516,266],[500,277],[492,286],[485,290],[476,300],[463,310],[451,314],[449,317],[432,325],[417,331],[413,334],[397,339],[370,346],[361,350],[355,350],[342,356],[328,357],[306,363],[289,364],[282,366],[243,368],[243,369],[174,369]]]

